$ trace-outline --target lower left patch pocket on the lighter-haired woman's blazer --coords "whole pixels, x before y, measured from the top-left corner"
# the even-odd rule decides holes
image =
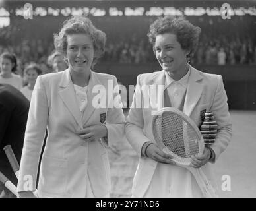
[[[67,186],[67,160],[44,156],[38,186],[46,193],[64,194]]]

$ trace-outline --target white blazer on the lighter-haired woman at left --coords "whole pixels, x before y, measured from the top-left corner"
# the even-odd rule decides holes
[[[106,147],[121,140],[125,117],[121,108],[111,107],[111,100],[119,94],[107,94],[108,82],[117,85],[115,76],[91,71],[88,84],[88,104],[81,117],[69,69],[38,76],[32,94],[24,148],[18,178],[18,191],[36,189],[36,175],[46,127],[48,138],[42,156],[38,195],[42,197],[84,197],[87,175],[96,197],[110,193],[110,165]],[[92,93],[96,85],[106,88],[100,92],[106,107],[95,108],[93,100],[100,94]],[[97,97],[98,96],[98,97]],[[119,98],[118,98],[119,99]],[[97,100],[96,100],[97,102]],[[109,107],[109,108],[108,108]],[[84,142],[77,131],[89,125],[104,124],[108,140]],[[32,183],[30,183],[32,180]]]

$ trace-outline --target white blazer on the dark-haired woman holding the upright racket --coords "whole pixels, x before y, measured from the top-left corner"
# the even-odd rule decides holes
[[[193,119],[197,126],[200,126],[202,123],[200,111],[207,109],[207,111],[211,110],[213,112],[214,119],[218,123],[216,142],[210,146],[215,153],[215,160],[213,161],[215,162],[226,149],[232,137],[232,124],[230,123],[230,113],[228,112],[227,96],[222,76],[203,73],[191,66],[190,69],[191,73],[187,84],[183,112]],[[164,86],[164,70],[142,74],[137,77],[137,85],[139,86],[153,84]],[[127,140],[140,156],[139,165],[133,180],[132,194],[136,197],[143,197],[150,185],[157,162],[151,158],[141,156],[141,147],[145,142],[155,142],[152,134],[152,120],[154,117],[152,111],[160,109],[164,105],[164,89],[162,89],[162,92],[156,90],[156,102],[159,99],[159,102],[161,102],[158,104],[158,108],[148,107],[140,109],[135,106],[135,102],[139,102],[137,98],[144,99],[146,91],[144,89],[141,92],[138,87],[135,89],[133,104],[131,105],[134,108],[130,109],[127,117],[125,133]],[[214,176],[209,165],[207,163],[201,168],[212,182],[212,185],[215,186],[216,183],[214,182]]]

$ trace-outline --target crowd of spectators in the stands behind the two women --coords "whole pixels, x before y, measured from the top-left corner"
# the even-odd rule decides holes
[[[96,26],[98,28],[102,26],[108,38],[102,62],[156,62],[152,46],[146,37],[146,28],[152,20],[145,18],[142,20],[138,18],[137,21],[115,18],[115,22],[113,18],[109,20],[106,18],[105,22],[100,19],[95,20]],[[256,36],[251,29],[252,22],[245,20],[244,17],[237,18],[233,22],[201,17],[192,22],[201,27],[201,38],[197,52],[191,58],[192,64],[256,64]],[[15,53],[20,71],[33,61],[46,73],[50,68],[47,62],[48,56],[54,49],[54,32],[46,31],[46,27],[35,28],[33,31],[31,26],[28,28],[26,24],[14,22],[10,26],[1,28],[0,54],[5,51]]]

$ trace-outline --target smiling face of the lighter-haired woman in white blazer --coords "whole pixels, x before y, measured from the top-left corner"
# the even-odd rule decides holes
[[[87,34],[67,36],[67,61],[71,71],[84,73],[90,71],[94,59],[92,39]]]

